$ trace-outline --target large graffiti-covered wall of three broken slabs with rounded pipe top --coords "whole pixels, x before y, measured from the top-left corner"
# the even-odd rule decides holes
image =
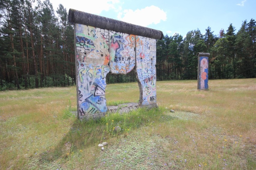
[[[69,10],[75,25],[77,104],[80,119],[108,110],[106,75],[137,73],[139,106],[157,107],[156,39],[163,33],[77,10]]]

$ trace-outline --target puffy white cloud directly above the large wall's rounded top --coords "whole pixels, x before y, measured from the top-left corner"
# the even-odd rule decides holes
[[[124,22],[148,26],[150,24],[158,24],[161,20],[166,21],[166,12],[161,10],[159,7],[151,5],[143,9],[137,10],[123,10],[118,14],[118,19]]]

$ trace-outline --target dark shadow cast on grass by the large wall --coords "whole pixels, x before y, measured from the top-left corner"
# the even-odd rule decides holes
[[[53,150],[48,150],[40,155],[40,163],[50,163],[59,159],[67,159],[74,152],[98,145],[115,136],[126,136],[131,130],[141,126],[148,126],[156,122],[164,122],[175,119],[166,115],[163,108],[139,108],[130,113],[107,113],[97,120],[73,122],[69,132]],[[71,119],[71,118],[70,118]],[[114,127],[120,127],[120,131]]]

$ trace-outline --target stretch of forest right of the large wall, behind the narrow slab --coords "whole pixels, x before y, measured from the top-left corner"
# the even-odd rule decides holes
[[[256,22],[242,22],[235,34],[232,24],[225,33],[214,35],[211,28],[203,35],[189,31],[183,40],[179,34],[157,40],[157,78],[197,79],[197,52],[210,53],[209,79],[256,77]]]

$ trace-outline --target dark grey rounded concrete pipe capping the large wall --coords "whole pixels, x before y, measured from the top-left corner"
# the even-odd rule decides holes
[[[154,39],[162,39],[163,32],[152,28],[142,27],[123,21],[118,21],[103,16],[94,15],[74,9],[69,9],[69,22],[90,25],[96,28],[113,30],[117,32],[150,37]]]

